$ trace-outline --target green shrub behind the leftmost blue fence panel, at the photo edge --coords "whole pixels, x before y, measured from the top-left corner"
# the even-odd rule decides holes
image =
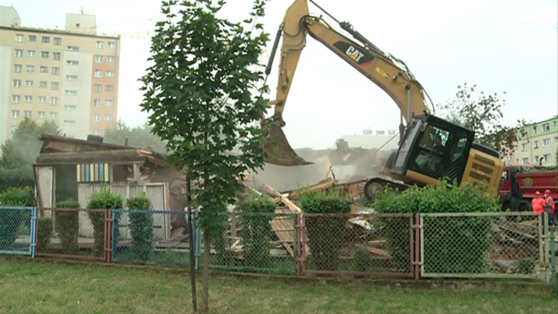
[[[0,206],[32,206],[30,187],[7,188],[0,193]],[[0,248],[11,250],[14,248],[17,233],[22,226],[31,222],[30,211],[0,210]]]

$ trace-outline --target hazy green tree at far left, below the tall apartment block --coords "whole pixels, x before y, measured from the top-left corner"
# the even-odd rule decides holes
[[[42,125],[24,118],[13,132],[11,140],[7,140],[0,148],[0,191],[7,187],[32,185],[33,168],[41,150],[39,136],[60,135],[54,121],[45,121]]]

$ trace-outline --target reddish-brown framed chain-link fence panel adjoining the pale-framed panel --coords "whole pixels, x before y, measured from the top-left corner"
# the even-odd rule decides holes
[[[306,274],[413,276],[411,214],[303,214]]]

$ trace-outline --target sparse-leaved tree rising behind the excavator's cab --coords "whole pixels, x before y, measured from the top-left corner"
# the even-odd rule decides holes
[[[441,106],[445,117],[475,131],[476,142],[494,148],[502,155],[513,151],[514,142],[518,140],[517,132],[527,122],[517,120],[513,126],[504,126],[501,120],[506,99],[499,98],[498,93],[477,92],[477,85],[465,83],[457,88],[455,98]]]

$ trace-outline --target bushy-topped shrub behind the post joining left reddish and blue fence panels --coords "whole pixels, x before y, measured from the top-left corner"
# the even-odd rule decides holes
[[[124,200],[120,194],[113,194],[109,187],[102,187],[99,192],[91,194],[87,202],[89,210],[111,210],[123,207]],[[88,212],[89,219],[93,224],[94,244],[93,254],[95,256],[102,256],[104,251],[104,220],[105,213],[101,211]],[[118,226],[120,215],[114,215],[114,224]],[[115,239],[118,239],[118,227],[114,229],[113,234]]]

